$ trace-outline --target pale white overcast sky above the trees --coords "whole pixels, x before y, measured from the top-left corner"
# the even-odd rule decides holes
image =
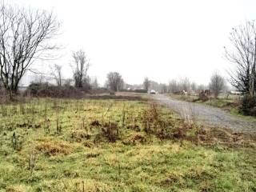
[[[230,69],[223,46],[229,45],[231,28],[256,18],[255,0],[6,2],[53,10],[62,22],[58,42],[65,46],[54,63],[71,77],[71,53],[83,49],[90,58],[89,74],[102,84],[109,71],[118,71],[128,83],[141,83],[146,76],[208,83],[214,70],[226,75]]]

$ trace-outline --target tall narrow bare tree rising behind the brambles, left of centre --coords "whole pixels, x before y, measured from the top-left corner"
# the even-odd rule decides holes
[[[73,53],[74,65],[73,68],[73,77],[74,77],[74,86],[82,87],[83,82],[86,81],[87,71],[89,70],[89,60],[86,57],[86,53],[83,50],[78,50]]]

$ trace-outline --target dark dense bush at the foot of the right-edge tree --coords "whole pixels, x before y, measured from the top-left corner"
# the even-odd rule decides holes
[[[256,116],[256,97],[252,98],[250,95],[244,95],[240,111],[242,114]]]

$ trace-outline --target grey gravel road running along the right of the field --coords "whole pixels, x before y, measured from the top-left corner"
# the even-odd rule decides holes
[[[213,106],[178,101],[162,94],[153,95],[153,98],[178,112],[178,114],[182,116],[190,115],[195,117],[197,121],[207,125],[229,128],[235,132],[256,133],[256,120],[254,122],[246,121]]]

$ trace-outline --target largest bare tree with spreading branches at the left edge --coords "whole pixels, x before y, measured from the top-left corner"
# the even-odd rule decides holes
[[[25,10],[2,4],[0,7],[0,78],[13,98],[18,83],[35,59],[53,50],[49,40],[57,35],[59,23],[53,13]]]

